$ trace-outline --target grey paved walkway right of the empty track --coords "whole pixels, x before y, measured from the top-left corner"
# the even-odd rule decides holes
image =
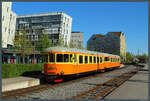
[[[148,71],[139,71],[105,99],[148,99]]]

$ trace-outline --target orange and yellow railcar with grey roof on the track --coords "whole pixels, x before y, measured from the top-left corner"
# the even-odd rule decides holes
[[[44,75],[48,81],[120,66],[120,57],[107,53],[65,47],[47,48],[45,53],[48,61]]]

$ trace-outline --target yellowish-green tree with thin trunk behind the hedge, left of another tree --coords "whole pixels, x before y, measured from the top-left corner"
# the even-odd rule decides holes
[[[30,55],[34,51],[34,46],[32,45],[31,40],[28,40],[26,31],[25,30],[17,31],[13,42],[15,50],[21,52],[24,64],[25,55]]]

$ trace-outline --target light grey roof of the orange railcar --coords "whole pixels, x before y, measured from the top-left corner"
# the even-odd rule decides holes
[[[67,47],[60,47],[60,46],[47,48],[45,49],[45,52],[52,52],[52,50],[56,52],[79,52],[79,53],[119,57],[118,55],[113,55],[113,54],[108,54],[108,53],[100,53],[100,52],[95,52],[95,51],[88,51],[85,49],[67,48]]]

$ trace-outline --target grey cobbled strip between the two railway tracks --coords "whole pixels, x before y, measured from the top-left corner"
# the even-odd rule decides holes
[[[84,91],[96,87],[98,84],[102,84],[115,76],[119,76],[122,73],[126,73],[135,69],[135,66],[128,66],[120,70],[114,70],[111,72],[100,73],[100,75],[94,75],[93,77],[79,80],[77,82],[60,85],[57,87],[49,88],[36,93],[26,94],[16,99],[71,99],[73,96],[80,94]]]

